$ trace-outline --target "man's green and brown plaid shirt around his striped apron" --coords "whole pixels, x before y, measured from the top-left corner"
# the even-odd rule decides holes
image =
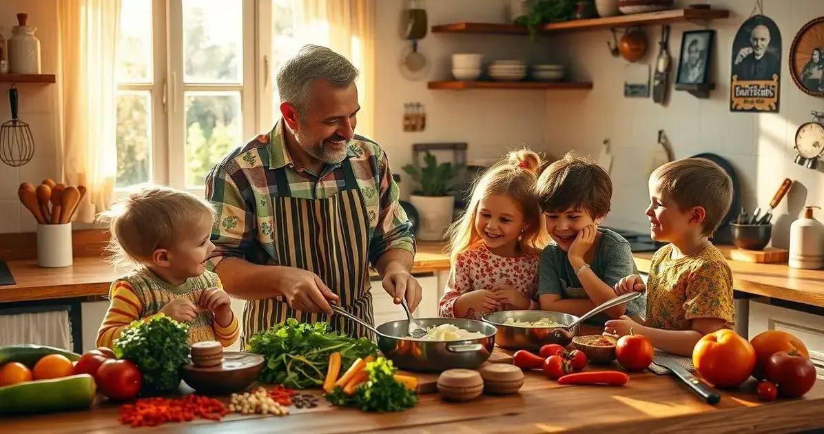
[[[206,198],[217,219],[212,229],[215,250],[208,261],[214,267],[226,256],[254,264],[274,264],[274,228],[271,198],[279,194],[272,173],[286,167],[288,195],[293,198],[330,198],[344,189],[358,189],[369,216],[369,262],[374,266],[387,250],[415,251],[412,224],[400,207],[400,190],[392,180],[389,161],[377,143],[355,136],[349,141],[349,159],[357,185],[347,185],[341,164],[325,165],[320,175],[296,166],[283,139],[283,120],[268,134],[238,147],[214,166],[206,177]]]

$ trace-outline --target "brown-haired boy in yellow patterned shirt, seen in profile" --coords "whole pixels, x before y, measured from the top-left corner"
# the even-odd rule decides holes
[[[615,286],[619,295],[647,291],[644,324],[621,317],[606,322],[606,334],[632,329],[655,348],[690,356],[702,336],[733,326],[733,273],[709,241],[732,197],[732,180],[704,158],[672,161],[649,176],[650,232],[670,244],[653,254],[646,287],[637,274]]]

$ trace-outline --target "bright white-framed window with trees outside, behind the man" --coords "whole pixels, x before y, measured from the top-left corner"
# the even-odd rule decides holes
[[[122,0],[116,186],[203,189],[255,133],[255,2]]]

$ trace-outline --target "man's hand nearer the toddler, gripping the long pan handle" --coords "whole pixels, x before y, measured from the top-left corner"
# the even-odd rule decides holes
[[[286,297],[289,307],[305,312],[332,315],[330,301],[340,299],[335,292],[321,281],[317,274],[301,268],[291,268],[283,273],[283,287],[281,292]]]

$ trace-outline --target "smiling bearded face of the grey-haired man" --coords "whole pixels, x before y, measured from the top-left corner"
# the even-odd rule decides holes
[[[346,147],[358,124],[358,88],[330,86],[316,80],[311,86],[307,114],[298,115],[295,139],[304,152],[325,162],[344,161]]]

